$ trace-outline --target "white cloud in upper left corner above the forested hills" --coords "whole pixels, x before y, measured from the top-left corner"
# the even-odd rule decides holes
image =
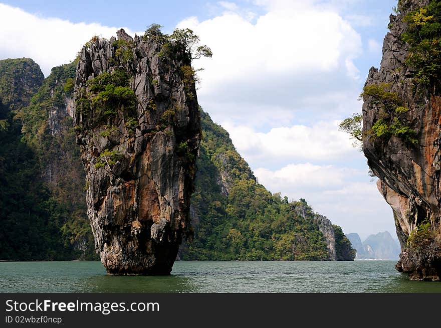
[[[74,60],[94,35],[110,38],[116,36],[119,28],[42,18],[0,4],[0,29],[0,59],[30,57],[48,75],[54,66]],[[129,29],[125,30],[134,35]]]

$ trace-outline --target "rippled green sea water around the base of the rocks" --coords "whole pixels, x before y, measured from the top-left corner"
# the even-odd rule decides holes
[[[108,276],[98,261],[0,262],[0,292],[441,292],[395,261],[177,261],[170,276]]]

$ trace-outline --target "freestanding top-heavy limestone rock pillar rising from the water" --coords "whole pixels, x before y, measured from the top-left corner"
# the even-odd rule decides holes
[[[169,274],[191,232],[200,119],[194,79],[184,74],[190,58],[178,46],[164,56],[157,39],[117,35],[119,43],[93,40],[77,65],[74,118],[88,216],[109,274]],[[98,105],[99,90],[87,81],[115,72],[127,73],[134,106],[127,92],[109,102],[101,94]]]

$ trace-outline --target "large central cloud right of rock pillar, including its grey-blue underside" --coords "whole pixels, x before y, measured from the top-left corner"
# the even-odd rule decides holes
[[[268,12],[253,22],[229,11],[177,26],[194,30],[213,51],[212,58],[194,65],[205,68],[198,99],[215,119],[254,115],[258,106],[304,110],[306,98],[320,101],[331,94],[345,93],[345,103],[357,98],[353,61],[361,53],[361,37],[337,11],[305,1],[257,4]],[[330,112],[333,105],[314,104],[314,110]]]

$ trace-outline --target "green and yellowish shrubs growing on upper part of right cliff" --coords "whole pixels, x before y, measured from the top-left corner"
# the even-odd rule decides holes
[[[410,1],[400,0],[398,8],[407,11],[402,19],[406,28],[400,31],[400,40],[410,47],[405,65],[413,74],[413,92],[435,94],[441,79],[441,1],[431,0],[428,6],[414,8]],[[396,15],[400,14],[399,9],[394,9]],[[417,144],[416,132],[405,115],[409,111],[407,97],[391,90],[392,85],[385,82],[365,85],[360,98],[364,101],[371,98],[371,103],[380,110],[380,118],[364,134],[360,133],[360,114],[346,118],[340,129],[358,141],[363,138],[387,141],[394,135],[409,144]]]

